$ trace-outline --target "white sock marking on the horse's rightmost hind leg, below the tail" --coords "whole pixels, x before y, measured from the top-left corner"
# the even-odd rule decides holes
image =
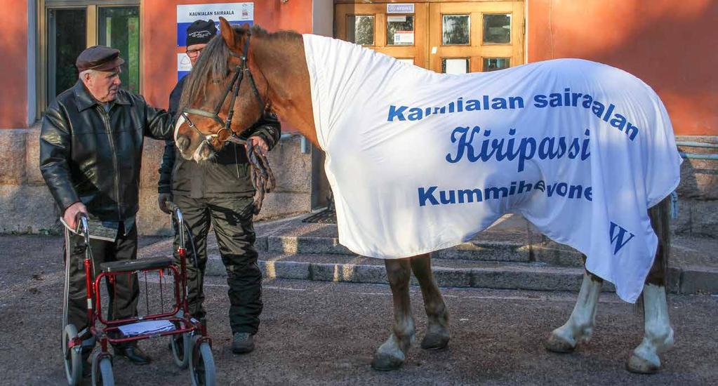
[[[673,329],[668,318],[666,287],[646,284],[643,286],[643,342],[633,350],[633,355],[658,369],[658,354],[673,347]],[[633,361],[629,362],[629,366]],[[650,370],[650,369],[648,369]]]

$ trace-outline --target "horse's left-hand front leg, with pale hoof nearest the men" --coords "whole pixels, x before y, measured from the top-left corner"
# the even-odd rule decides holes
[[[409,259],[386,259],[384,265],[394,302],[394,326],[389,339],[376,349],[371,367],[388,371],[398,369],[404,364],[406,352],[414,342],[416,331],[409,299]]]

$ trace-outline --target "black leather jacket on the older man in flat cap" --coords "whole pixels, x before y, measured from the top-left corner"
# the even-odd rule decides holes
[[[119,90],[107,112],[78,80],[42,118],[40,171],[60,213],[81,201],[100,220],[134,216],[144,136],[172,138],[172,130],[169,113],[140,95]]]

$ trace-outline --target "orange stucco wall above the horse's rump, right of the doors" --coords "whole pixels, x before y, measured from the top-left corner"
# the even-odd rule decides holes
[[[527,1],[529,62],[619,67],[656,90],[677,135],[718,135],[718,1]]]

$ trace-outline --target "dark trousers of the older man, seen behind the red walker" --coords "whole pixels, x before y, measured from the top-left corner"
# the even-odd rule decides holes
[[[95,262],[95,274],[99,273],[100,263],[137,258],[137,227],[128,235],[119,232],[117,240],[108,242],[90,239],[90,248]],[[88,326],[87,287],[85,286],[85,240],[70,233],[65,238],[65,251],[70,250],[70,291],[67,301],[67,322],[75,324],[78,332]],[[67,254],[65,254],[67,255]],[[67,262],[65,262],[67,263]],[[107,282],[107,281],[106,281]],[[109,319],[125,319],[137,315],[139,285],[137,274],[116,276],[114,286],[107,284],[109,303],[103,304]],[[95,299],[93,299],[94,304]]]

